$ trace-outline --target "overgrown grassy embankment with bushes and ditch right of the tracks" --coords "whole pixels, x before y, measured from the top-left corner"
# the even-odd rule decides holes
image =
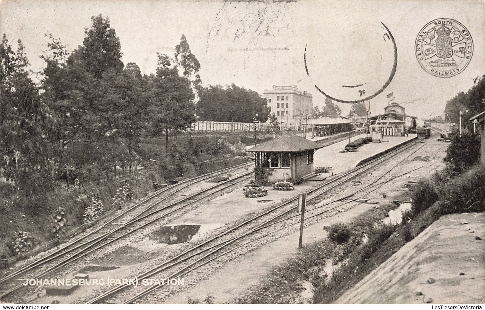
[[[304,247],[235,302],[301,303],[303,284],[309,282],[314,303],[332,303],[442,215],[484,212],[484,179],[485,167],[478,166],[453,178],[436,173],[430,180],[421,180],[409,192],[412,209],[404,212],[401,224],[375,225],[397,207],[388,205],[373,208],[349,224],[330,227],[329,238]],[[364,233],[366,242],[361,238]],[[331,275],[324,272],[328,260],[338,263]]]

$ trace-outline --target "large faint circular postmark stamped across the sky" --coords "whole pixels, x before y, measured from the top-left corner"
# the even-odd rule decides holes
[[[315,88],[340,103],[371,100],[390,84],[397,69],[397,46],[384,23],[366,27],[347,22],[323,32],[328,40],[305,46],[305,70]],[[331,34],[331,35],[330,35]]]

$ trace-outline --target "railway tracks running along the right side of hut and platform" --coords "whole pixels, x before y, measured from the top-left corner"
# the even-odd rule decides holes
[[[356,176],[364,173],[365,171],[369,171],[370,169],[374,168],[375,166],[381,164],[385,160],[387,160],[389,157],[396,155],[399,152],[402,152],[405,149],[411,148],[413,146],[416,146],[418,144],[417,141],[411,142],[409,144],[406,144],[400,148],[397,148],[391,152],[389,152],[386,155],[380,156],[378,158],[373,159],[372,161],[356,167],[353,170],[347,171],[345,173],[342,173],[341,175],[336,176],[333,180],[326,182],[325,184],[318,186],[312,190],[310,190],[307,193],[307,202],[312,201],[316,199],[317,197],[321,197],[323,194],[328,193],[330,190],[334,189],[335,187],[338,187],[349,180],[355,178]],[[414,154],[416,151],[418,151],[423,145],[421,145],[417,150],[413,151],[410,155]],[[398,162],[396,165],[391,167],[390,170],[394,169],[396,166],[398,166],[400,163],[402,163],[405,159],[407,159],[410,155],[407,155],[402,161]],[[390,171],[389,170],[389,171]],[[404,174],[410,173],[411,171],[408,171]],[[402,174],[402,175],[404,175]],[[340,207],[343,204],[347,204],[350,202],[340,202],[343,199],[352,197],[353,195],[356,195],[358,192],[363,192],[366,188],[370,188],[371,186],[375,186],[377,184],[384,184],[389,182],[390,180],[387,181],[381,181],[380,183],[377,183],[380,179],[384,177],[385,174],[374,180],[370,185],[366,186],[365,188],[359,189],[356,192],[352,193],[351,195],[348,195],[347,197],[340,197],[339,199],[333,200],[331,202],[324,203],[323,205],[319,205],[313,209],[308,210],[307,212],[310,212],[309,215],[310,217],[306,218],[306,220],[314,217],[321,216],[322,214],[336,209]],[[375,189],[373,189],[375,190]],[[367,195],[365,193],[364,195]],[[358,199],[358,198],[356,198]],[[355,201],[354,199],[353,201]],[[296,220],[293,223],[288,223],[288,220],[295,219],[297,217],[300,217],[299,214],[294,214],[291,216],[284,217],[285,215],[294,213],[296,206],[297,206],[297,200],[298,197],[291,198],[290,200],[283,202],[270,210],[267,210],[255,217],[252,217],[241,224],[238,224],[228,230],[226,230],[223,233],[220,233],[216,235],[215,237],[212,237],[206,241],[203,241],[202,243],[194,246],[193,248],[189,248],[185,250],[184,252],[176,255],[175,257],[166,260],[163,263],[158,264],[157,266],[153,267],[152,269],[137,275],[135,278],[138,281],[141,281],[143,279],[148,279],[150,277],[154,277],[162,272],[168,273],[169,276],[163,276],[163,279],[165,278],[170,278],[173,279],[175,277],[180,277],[185,274],[187,274],[190,271],[193,271],[194,269],[210,263],[211,261],[220,258],[221,256],[224,256],[225,254],[233,251],[236,248],[241,248],[244,245],[247,245],[254,240],[258,240],[264,236],[268,236],[270,234],[276,233],[280,230],[287,229],[288,227],[292,225],[296,225],[299,223],[298,220]],[[332,205],[337,203],[338,205]],[[316,212],[315,214],[312,214],[314,210],[324,208],[326,207],[323,211]],[[308,213],[307,213],[308,214]],[[281,218],[284,217],[284,218]],[[267,229],[271,226],[279,224],[280,228],[277,230],[273,230],[271,232],[266,232]],[[239,230],[242,230],[242,232],[239,232]],[[246,236],[249,236],[251,234],[255,233],[262,233],[262,235],[256,236],[255,238],[249,240],[249,241],[244,241],[243,238]],[[219,253],[221,250],[225,250],[223,253]],[[176,269],[176,270],[174,270]],[[141,297],[145,296],[146,294],[149,294],[150,292],[156,290],[157,288],[161,287],[162,285],[157,284],[150,286],[141,292],[138,292],[134,294],[132,297],[129,297],[128,299],[124,300],[123,303],[128,304],[128,303],[133,303],[136,300],[140,299]],[[87,303],[88,304],[95,304],[95,303],[100,303],[103,300],[106,300],[108,298],[113,298],[117,294],[121,294],[122,291],[125,290],[135,290],[133,286],[130,285],[120,285],[117,286],[99,296],[97,296],[94,299],[89,300]]]

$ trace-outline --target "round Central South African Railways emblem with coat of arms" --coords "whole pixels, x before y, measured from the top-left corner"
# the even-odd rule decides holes
[[[438,18],[424,26],[414,46],[424,71],[440,78],[462,72],[473,55],[473,40],[465,26],[451,18]]]

